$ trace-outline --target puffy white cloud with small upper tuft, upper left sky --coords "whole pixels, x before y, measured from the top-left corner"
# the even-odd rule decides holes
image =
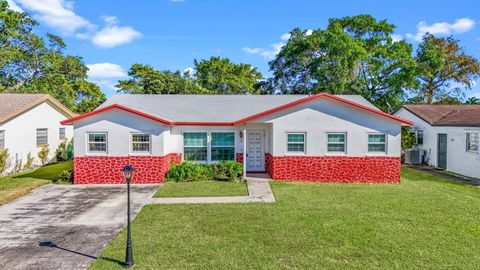
[[[105,26],[96,32],[92,38],[94,45],[102,48],[112,48],[132,42],[139,37],[140,32],[129,26],[118,26],[114,16],[104,16]]]

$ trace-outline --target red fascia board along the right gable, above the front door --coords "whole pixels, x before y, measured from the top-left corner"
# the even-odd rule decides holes
[[[370,107],[352,102],[350,100],[347,100],[347,99],[344,99],[344,98],[341,98],[341,97],[337,97],[337,96],[334,96],[334,95],[331,95],[331,94],[327,94],[327,93],[320,93],[320,94],[316,94],[316,95],[309,96],[309,97],[306,97],[306,98],[302,98],[302,99],[299,99],[297,101],[294,101],[294,102],[291,102],[291,103],[288,103],[288,104],[285,104],[285,105],[282,105],[282,106],[279,106],[279,107],[276,107],[276,108],[273,108],[273,109],[270,109],[270,110],[267,110],[267,111],[264,111],[264,112],[261,112],[261,113],[258,113],[258,114],[254,114],[252,116],[249,116],[249,117],[246,117],[246,118],[243,118],[243,119],[240,119],[238,121],[233,122],[233,125],[238,126],[238,125],[241,125],[241,124],[245,124],[245,123],[250,122],[252,120],[262,118],[262,117],[265,117],[267,115],[270,115],[270,114],[273,114],[273,113],[276,113],[276,112],[280,112],[280,111],[283,111],[283,110],[286,110],[286,109],[289,109],[289,108],[292,108],[292,107],[298,106],[300,104],[303,104],[303,103],[306,103],[306,102],[309,102],[309,101],[312,101],[312,100],[316,100],[316,99],[319,99],[319,98],[330,98],[330,99],[345,103],[347,105],[350,105],[352,107],[355,107],[355,108],[358,108],[358,109],[361,109],[361,110],[364,110],[364,111],[367,111],[367,112],[371,112],[371,113],[374,113],[374,114],[377,114],[377,115],[380,115],[380,116],[383,116],[383,117],[390,118],[392,120],[401,122],[401,123],[406,124],[408,126],[413,125],[413,122],[408,121],[406,119],[396,117],[394,115],[390,115],[388,113],[384,113],[382,111],[375,110],[375,109],[372,109]]]

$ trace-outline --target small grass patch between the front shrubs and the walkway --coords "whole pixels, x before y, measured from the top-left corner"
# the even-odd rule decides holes
[[[167,182],[154,197],[247,196],[245,183],[226,181]]]

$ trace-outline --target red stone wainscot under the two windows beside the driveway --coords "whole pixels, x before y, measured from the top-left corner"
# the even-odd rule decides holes
[[[182,154],[166,156],[76,157],[73,160],[74,184],[124,184],[120,170],[130,162],[135,169],[134,184],[163,183],[170,164],[180,163]]]

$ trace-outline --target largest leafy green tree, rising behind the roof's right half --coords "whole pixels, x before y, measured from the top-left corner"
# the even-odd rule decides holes
[[[392,111],[417,83],[412,46],[394,42],[394,29],[370,15],[330,19],[326,29],[296,28],[270,62],[274,87],[285,94],[360,94]]]

